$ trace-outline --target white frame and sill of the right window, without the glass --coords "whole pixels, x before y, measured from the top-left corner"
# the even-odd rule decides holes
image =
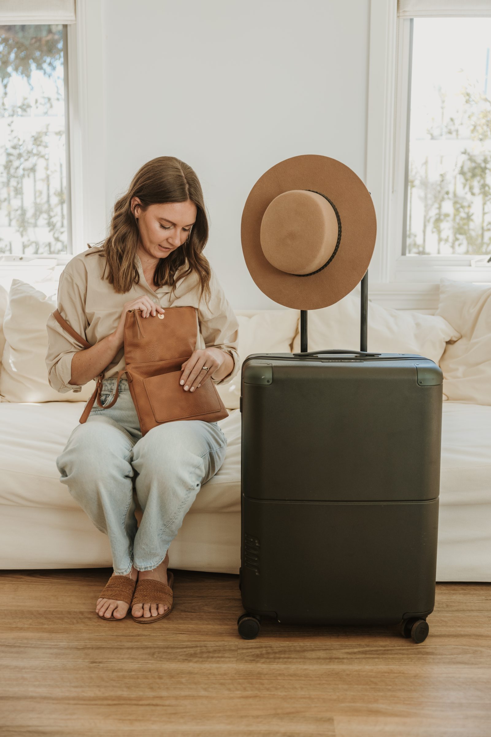
[[[395,284],[408,296],[431,293],[434,303],[439,279],[489,283],[491,265],[473,265],[478,256],[402,255],[410,28],[410,18],[398,18],[397,0],[371,0],[366,184],[377,214],[377,241],[369,280],[381,293],[392,292]]]

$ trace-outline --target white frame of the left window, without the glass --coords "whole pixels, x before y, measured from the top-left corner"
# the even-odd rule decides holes
[[[58,24],[56,13],[43,13],[42,0],[33,7],[32,18],[15,15],[13,4],[0,7],[0,24]],[[15,6],[14,6],[15,7]],[[42,18],[40,17],[42,15]],[[71,254],[58,254],[58,263],[85,251],[88,242],[98,242],[106,234],[105,195],[105,99],[102,55],[102,3],[77,0],[76,21],[67,24],[65,71],[67,167],[67,227],[71,231]],[[67,84],[68,80],[68,84]],[[68,180],[69,178],[69,180]],[[43,258],[37,255],[32,258]],[[53,256],[46,258],[53,259]],[[15,259],[17,260],[17,259]],[[28,261],[29,256],[25,257]]]

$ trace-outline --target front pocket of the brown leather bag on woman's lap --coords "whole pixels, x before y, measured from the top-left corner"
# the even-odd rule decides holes
[[[144,379],[155,422],[171,422],[173,419],[192,419],[221,410],[220,399],[211,380],[194,391],[184,391],[180,385],[183,371],[169,371]]]

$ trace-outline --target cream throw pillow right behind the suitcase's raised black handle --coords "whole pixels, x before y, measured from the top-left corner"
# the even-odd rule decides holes
[[[330,307],[309,310],[307,317],[309,351],[360,348],[360,290]],[[458,340],[459,332],[444,318],[411,310],[394,310],[368,301],[367,348],[375,353],[416,353],[438,363],[448,340]],[[300,332],[293,353],[300,351]]]

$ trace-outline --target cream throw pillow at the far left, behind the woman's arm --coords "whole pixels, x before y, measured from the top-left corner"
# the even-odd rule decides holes
[[[13,279],[9,304],[4,316],[5,346],[0,366],[2,402],[81,402],[96,386],[90,381],[82,391],[61,394],[48,382],[46,321],[56,310],[58,282],[43,282],[36,287]]]

